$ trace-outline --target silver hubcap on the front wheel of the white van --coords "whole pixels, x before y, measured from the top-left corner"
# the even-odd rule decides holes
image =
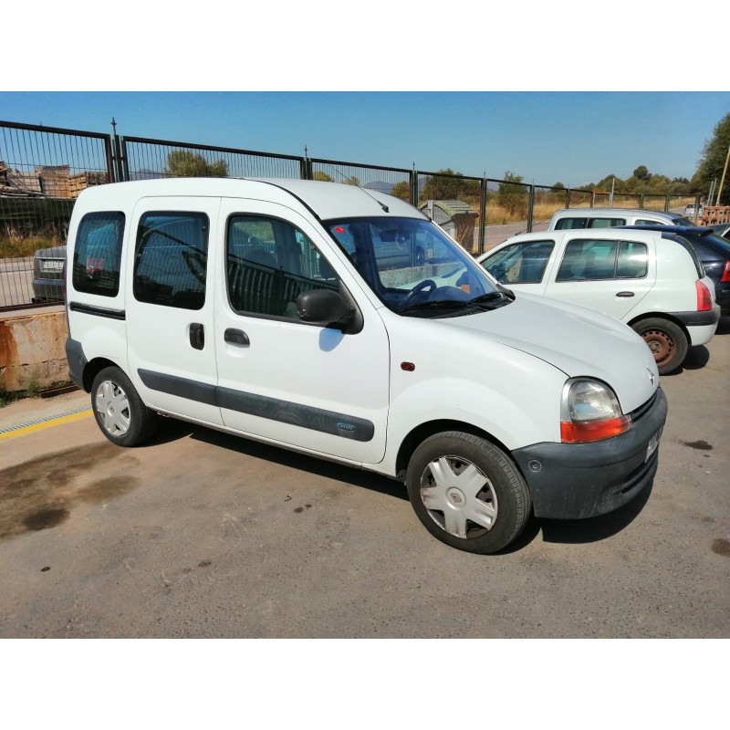
[[[440,456],[423,470],[421,499],[433,521],[454,537],[479,537],[497,513],[496,495],[485,474],[460,456]]]

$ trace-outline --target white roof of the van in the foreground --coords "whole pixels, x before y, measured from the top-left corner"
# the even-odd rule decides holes
[[[292,197],[303,203],[320,220],[387,215],[428,220],[411,203],[357,185],[325,183],[291,178],[181,177],[110,183],[87,188],[79,195],[85,203],[110,199],[197,195],[255,197],[291,205]]]

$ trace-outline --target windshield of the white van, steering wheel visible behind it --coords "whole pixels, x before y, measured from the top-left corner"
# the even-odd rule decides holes
[[[358,218],[325,227],[382,303],[398,314],[454,317],[514,300],[430,221]]]

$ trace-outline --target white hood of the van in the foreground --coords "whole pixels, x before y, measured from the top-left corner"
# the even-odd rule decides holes
[[[569,378],[608,383],[624,413],[648,401],[659,387],[644,340],[628,325],[594,309],[520,293],[506,307],[449,322],[544,360]]]

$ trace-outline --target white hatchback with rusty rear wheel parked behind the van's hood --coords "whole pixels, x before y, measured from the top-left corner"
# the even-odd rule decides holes
[[[694,246],[666,231],[604,229],[516,235],[477,259],[516,292],[620,319],[646,340],[661,375],[714,336],[714,283]]]

